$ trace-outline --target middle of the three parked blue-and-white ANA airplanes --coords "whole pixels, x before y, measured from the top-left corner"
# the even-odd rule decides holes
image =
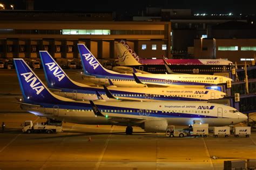
[[[172,87],[92,87],[73,81],[47,51],[39,51],[48,88],[74,100],[201,100],[223,98],[226,93],[208,89]],[[111,80],[109,80],[111,81]]]

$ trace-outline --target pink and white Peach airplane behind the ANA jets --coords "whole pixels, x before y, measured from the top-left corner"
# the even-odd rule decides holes
[[[134,67],[143,72],[150,73],[194,73],[194,74],[214,74],[215,72],[231,71],[234,64],[225,59],[142,59],[134,52],[131,47],[120,40],[116,43],[117,54],[120,66],[113,67],[116,71],[126,71],[129,67]],[[131,58],[127,57],[127,52]],[[165,65],[166,63],[166,65]],[[169,72],[171,69],[172,72]]]

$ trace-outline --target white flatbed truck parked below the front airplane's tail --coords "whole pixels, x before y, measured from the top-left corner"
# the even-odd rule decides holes
[[[62,126],[55,126],[55,125],[45,125],[44,123],[41,124],[33,124],[32,120],[26,120],[23,123],[22,128],[23,133],[32,133],[32,132],[39,132],[39,133],[55,133],[55,132],[62,132]]]

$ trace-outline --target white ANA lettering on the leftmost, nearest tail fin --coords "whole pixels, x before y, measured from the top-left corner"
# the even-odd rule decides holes
[[[37,95],[44,90],[44,86],[40,83],[40,81],[35,76],[33,76],[32,72],[22,73],[21,76],[25,78],[26,83],[29,83],[31,81],[30,87],[32,87],[33,90],[36,90]],[[36,83],[36,81],[38,82]]]

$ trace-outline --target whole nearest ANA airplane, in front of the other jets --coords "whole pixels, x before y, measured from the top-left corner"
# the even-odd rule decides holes
[[[21,58],[14,59],[21,87],[22,110],[60,121],[91,125],[122,125],[126,134],[132,126],[145,132],[164,132],[168,125],[188,125],[193,121],[210,126],[237,124],[247,119],[235,108],[198,101],[75,101],[53,94]]]

